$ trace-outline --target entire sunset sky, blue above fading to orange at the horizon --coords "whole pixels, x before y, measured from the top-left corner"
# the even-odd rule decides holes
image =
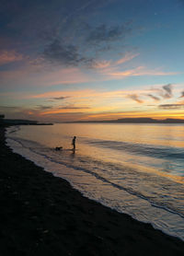
[[[184,0],[0,0],[0,113],[184,119]]]

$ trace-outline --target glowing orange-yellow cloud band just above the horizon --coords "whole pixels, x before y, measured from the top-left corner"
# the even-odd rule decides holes
[[[24,108],[24,107],[0,107],[6,113],[7,118],[31,118],[33,120],[59,122],[76,120],[116,120],[120,118],[151,117],[155,119],[179,118],[184,119],[183,110],[160,111],[158,109],[136,109],[131,111],[116,111],[115,108],[88,106],[66,106],[63,108]]]

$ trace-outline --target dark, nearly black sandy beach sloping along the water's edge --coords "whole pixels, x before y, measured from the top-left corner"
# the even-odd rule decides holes
[[[184,255],[184,242],[91,201],[5,144],[0,128],[0,255]]]

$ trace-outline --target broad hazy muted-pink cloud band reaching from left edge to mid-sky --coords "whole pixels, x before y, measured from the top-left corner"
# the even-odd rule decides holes
[[[16,70],[0,71],[2,87],[50,87],[60,84],[79,84],[95,81],[94,76],[83,73],[79,68],[40,70],[30,64]]]

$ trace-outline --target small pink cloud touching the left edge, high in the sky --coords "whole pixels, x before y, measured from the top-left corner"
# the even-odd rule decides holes
[[[22,60],[23,60],[22,54],[19,54],[16,51],[0,52],[0,65],[18,62],[18,61],[22,61]]]

